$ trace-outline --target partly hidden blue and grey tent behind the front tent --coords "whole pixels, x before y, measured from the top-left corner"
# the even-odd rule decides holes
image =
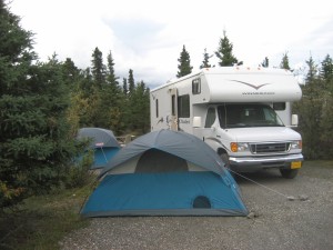
[[[120,150],[120,144],[111,130],[82,128],[78,132],[78,139],[90,139],[89,149],[93,150],[93,163],[90,169],[104,168]]]

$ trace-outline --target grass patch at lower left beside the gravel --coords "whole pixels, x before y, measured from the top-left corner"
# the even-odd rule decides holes
[[[87,227],[79,211],[92,186],[31,197],[14,210],[0,213],[0,249],[60,249],[70,231]]]

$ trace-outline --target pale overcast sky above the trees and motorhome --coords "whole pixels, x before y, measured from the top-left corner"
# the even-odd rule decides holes
[[[279,67],[287,53],[302,71],[310,57],[333,57],[333,1],[296,0],[10,0],[10,11],[33,36],[40,61],[53,53],[91,67],[95,48],[112,53],[115,74],[150,88],[174,79],[183,46],[193,71],[204,49],[214,54],[225,31],[233,53],[256,67],[268,57]],[[210,59],[218,67],[216,57]]]

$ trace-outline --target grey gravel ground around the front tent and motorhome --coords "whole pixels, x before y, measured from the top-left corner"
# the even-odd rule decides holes
[[[246,177],[265,187],[236,178],[253,218],[97,218],[61,249],[333,249],[333,168],[305,162],[293,180],[278,170]]]

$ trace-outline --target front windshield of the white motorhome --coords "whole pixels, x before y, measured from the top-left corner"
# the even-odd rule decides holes
[[[218,107],[222,128],[282,127],[275,111],[266,104],[224,104]]]

